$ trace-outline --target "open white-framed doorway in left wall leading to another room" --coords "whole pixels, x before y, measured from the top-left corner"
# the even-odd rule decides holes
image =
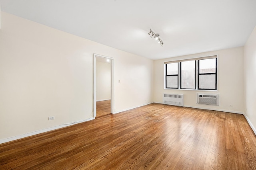
[[[113,65],[114,60],[111,57],[94,54],[94,119],[97,117],[97,108],[101,115],[108,114],[108,111],[113,114]]]

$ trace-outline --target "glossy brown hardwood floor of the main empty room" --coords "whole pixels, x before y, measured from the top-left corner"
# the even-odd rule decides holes
[[[0,145],[0,169],[255,170],[243,115],[149,104]]]

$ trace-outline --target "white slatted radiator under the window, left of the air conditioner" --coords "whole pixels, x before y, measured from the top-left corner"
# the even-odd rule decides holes
[[[183,107],[183,94],[163,94],[163,104]]]

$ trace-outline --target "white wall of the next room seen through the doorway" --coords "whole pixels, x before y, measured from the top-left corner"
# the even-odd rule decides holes
[[[111,63],[96,61],[96,101],[111,98]]]

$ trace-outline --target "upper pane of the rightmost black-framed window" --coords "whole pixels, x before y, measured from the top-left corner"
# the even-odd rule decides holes
[[[216,73],[216,58],[199,60],[199,73]]]

